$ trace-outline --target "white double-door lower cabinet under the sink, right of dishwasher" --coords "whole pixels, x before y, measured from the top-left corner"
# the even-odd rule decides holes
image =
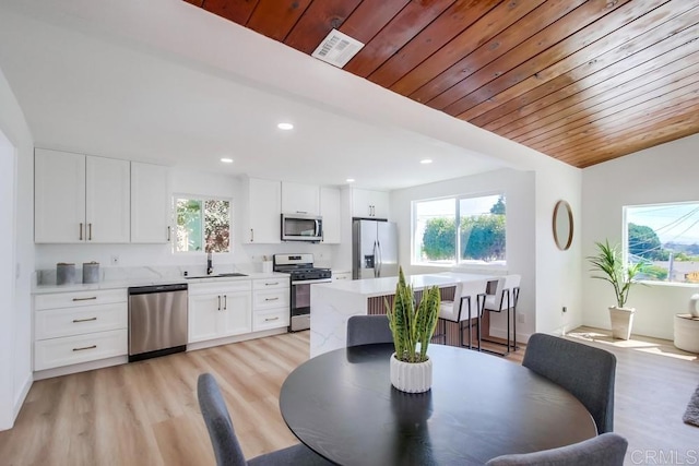
[[[252,331],[250,280],[189,286],[189,343]]]

